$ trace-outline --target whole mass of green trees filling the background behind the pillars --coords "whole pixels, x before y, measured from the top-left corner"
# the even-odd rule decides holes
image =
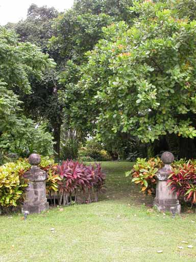
[[[1,161],[32,151],[77,159],[92,137],[113,160],[194,157],[195,8],[32,4],[25,20],[1,27]]]

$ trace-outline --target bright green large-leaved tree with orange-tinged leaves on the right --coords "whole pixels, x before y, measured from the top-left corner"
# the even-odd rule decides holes
[[[172,133],[195,137],[195,21],[177,4],[135,1],[134,25],[105,28],[87,52],[78,83],[83,100],[73,106],[101,141],[118,133],[141,142]]]

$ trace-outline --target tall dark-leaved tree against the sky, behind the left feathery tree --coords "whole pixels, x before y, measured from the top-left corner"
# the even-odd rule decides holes
[[[52,26],[57,16],[58,11],[53,7],[32,4],[25,20],[16,24],[8,23],[6,27],[14,29],[21,42],[34,43],[42,52],[58,61],[58,66],[45,70],[41,79],[31,79],[31,94],[22,93],[20,100],[24,102],[23,111],[26,116],[47,123],[47,129],[53,133],[55,152],[59,155],[62,124],[62,106],[58,101],[60,59],[56,48],[48,49],[48,42],[55,34]]]

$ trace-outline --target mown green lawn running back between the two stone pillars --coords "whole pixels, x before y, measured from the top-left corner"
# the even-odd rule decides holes
[[[196,261],[196,215],[158,215],[148,206],[152,199],[125,177],[131,163],[103,167],[107,191],[98,203],[53,208],[27,221],[21,214],[0,216],[0,261]]]

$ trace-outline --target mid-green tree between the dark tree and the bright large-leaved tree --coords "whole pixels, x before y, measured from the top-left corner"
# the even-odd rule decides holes
[[[83,118],[72,119],[77,109],[72,106],[83,99],[80,91],[75,88],[80,79],[81,64],[86,63],[86,51],[92,50],[99,39],[103,37],[102,28],[121,19],[130,23],[135,13],[130,11],[132,1],[102,1],[76,0],[74,7],[56,19],[57,35],[51,39],[51,46],[64,59],[64,68],[60,75],[62,89],[60,101],[64,112],[64,127],[77,129],[77,134],[83,137],[89,133],[91,125],[83,123]],[[62,64],[62,63],[61,63]],[[85,112],[80,112],[85,114]],[[69,132],[66,131],[66,134]],[[64,136],[65,137],[65,136]],[[78,137],[81,140],[81,137]]]

